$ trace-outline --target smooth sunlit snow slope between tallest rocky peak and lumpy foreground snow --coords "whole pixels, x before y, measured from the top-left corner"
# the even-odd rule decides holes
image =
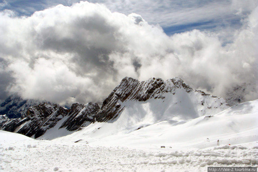
[[[117,122],[117,123],[116,123]],[[119,118],[113,123],[94,123],[62,141],[88,142],[103,146],[117,145],[141,149],[160,149],[160,146],[206,148],[220,144],[241,144],[258,140],[258,100],[234,105],[215,115],[192,120],[164,120],[133,132],[121,128]],[[101,130],[102,129],[102,130]],[[209,141],[207,141],[209,138]]]

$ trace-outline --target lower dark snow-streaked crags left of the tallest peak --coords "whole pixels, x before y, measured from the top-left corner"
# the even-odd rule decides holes
[[[0,119],[0,129],[38,138],[66,117],[67,120],[60,124],[60,128],[66,127],[67,130],[74,131],[85,122],[94,122],[93,116],[99,109],[97,103],[74,103],[68,110],[58,104],[42,102],[29,107],[20,118],[9,119],[1,115],[0,118],[3,119]]]

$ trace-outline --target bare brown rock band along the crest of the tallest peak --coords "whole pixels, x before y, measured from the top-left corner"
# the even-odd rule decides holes
[[[138,81],[137,79],[125,77],[103,101],[101,110],[95,116],[96,121],[106,122],[108,120],[114,120],[123,111],[125,105],[122,104],[124,101],[142,102],[147,101],[148,99],[164,99],[165,101],[166,96],[170,97],[171,95],[174,95],[175,98],[178,98],[177,95],[175,95],[178,90],[183,90],[183,92],[189,95],[193,93],[195,94],[194,97],[203,96],[204,98],[200,98],[200,100],[191,101],[195,101],[195,103],[198,101],[198,104],[205,107],[204,111],[209,112],[210,109],[214,108],[221,109],[222,111],[229,107],[228,103],[226,103],[223,98],[206,94],[200,90],[194,91],[178,77],[166,81],[161,78],[150,78],[147,81]],[[210,101],[217,101],[217,103],[215,103],[216,105],[212,106],[211,103],[209,105],[207,99],[210,99]]]

